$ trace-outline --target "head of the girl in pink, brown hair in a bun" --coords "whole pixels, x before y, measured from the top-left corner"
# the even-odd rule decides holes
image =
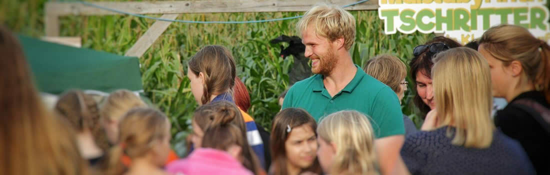
[[[191,135],[191,142],[195,147],[222,147],[229,145],[219,145],[221,142],[217,140],[205,140],[205,139],[219,139],[219,138],[206,138],[205,134],[208,128],[217,127],[219,124],[232,125],[232,127],[226,128],[227,130],[233,130],[232,134],[236,134],[235,131],[240,131],[239,135],[234,135],[235,140],[227,140],[228,142],[238,143],[243,156],[243,166],[249,169],[251,172],[259,172],[261,168],[259,160],[256,157],[254,151],[250,147],[246,135],[246,125],[244,123],[243,116],[240,110],[233,103],[228,101],[216,101],[202,105],[193,114],[193,120],[191,125],[193,126],[193,134]],[[219,131],[210,130],[209,132],[218,133]],[[237,137],[244,138],[243,140],[237,139]],[[205,142],[206,141],[206,142]]]

